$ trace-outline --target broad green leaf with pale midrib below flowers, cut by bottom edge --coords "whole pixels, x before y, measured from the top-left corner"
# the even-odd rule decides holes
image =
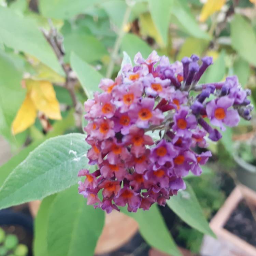
[[[87,205],[76,185],[54,198],[48,214],[49,256],[94,255],[104,225],[104,211]]]

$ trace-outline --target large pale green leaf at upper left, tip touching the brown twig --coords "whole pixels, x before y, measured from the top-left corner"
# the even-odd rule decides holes
[[[0,7],[1,40],[8,47],[33,55],[60,75],[64,72],[37,25],[30,19]]]

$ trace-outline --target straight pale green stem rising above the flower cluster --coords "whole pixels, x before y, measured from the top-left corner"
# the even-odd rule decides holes
[[[125,25],[128,22],[128,19],[130,17],[130,13],[131,13],[131,7],[127,6],[125,14],[124,14],[122,26],[121,26],[121,28],[119,30],[119,34],[118,34],[118,37],[117,37],[117,39],[115,41],[114,49],[113,49],[113,52],[111,54],[111,60],[110,60],[109,66],[108,66],[108,70],[106,72],[106,77],[107,78],[110,78],[112,76],[112,74],[113,74],[116,56],[118,54],[118,51],[119,51],[122,39],[123,39],[123,37],[125,35],[124,27],[125,27]]]

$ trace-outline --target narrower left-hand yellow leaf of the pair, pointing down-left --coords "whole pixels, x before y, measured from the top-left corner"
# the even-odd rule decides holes
[[[36,117],[37,110],[35,109],[34,103],[29,94],[27,94],[12,123],[13,134],[15,135],[19,132],[25,131],[28,127],[34,124]]]

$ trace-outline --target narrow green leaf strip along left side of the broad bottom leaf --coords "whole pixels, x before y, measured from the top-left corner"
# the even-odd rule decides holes
[[[48,256],[47,252],[47,224],[49,220],[49,211],[57,194],[48,196],[40,204],[39,211],[34,221],[34,256]]]

